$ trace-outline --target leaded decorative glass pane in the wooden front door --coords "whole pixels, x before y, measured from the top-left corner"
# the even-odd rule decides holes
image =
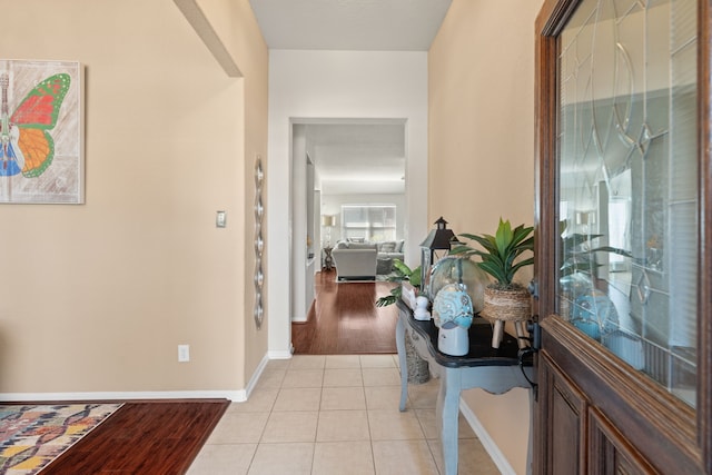
[[[558,313],[696,390],[696,2],[583,0],[560,36]]]

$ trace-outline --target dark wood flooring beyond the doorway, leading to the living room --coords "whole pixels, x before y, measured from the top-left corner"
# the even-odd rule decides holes
[[[395,284],[336,283],[336,271],[315,276],[316,298],[306,323],[291,324],[291,344],[296,354],[353,355],[397,353],[395,305],[376,307]]]

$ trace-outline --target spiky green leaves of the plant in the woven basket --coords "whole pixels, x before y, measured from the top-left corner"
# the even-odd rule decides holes
[[[534,257],[520,259],[526,251],[534,251],[533,227],[520,225],[512,229],[508,220],[500,218],[500,226],[494,236],[462,234],[459,236],[474,240],[484,248],[476,249],[468,245],[455,246],[451,254],[476,255],[482,259],[479,268],[494,277],[495,287],[501,289],[521,287],[513,281],[515,274],[525,266],[534,264]]]

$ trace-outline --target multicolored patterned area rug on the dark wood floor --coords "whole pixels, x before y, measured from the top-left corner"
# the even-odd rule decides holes
[[[121,404],[0,405],[0,474],[36,474]]]

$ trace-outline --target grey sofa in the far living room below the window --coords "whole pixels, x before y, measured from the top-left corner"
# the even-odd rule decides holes
[[[403,260],[403,241],[339,241],[332,250],[337,280],[375,280],[392,271],[393,259]]]

